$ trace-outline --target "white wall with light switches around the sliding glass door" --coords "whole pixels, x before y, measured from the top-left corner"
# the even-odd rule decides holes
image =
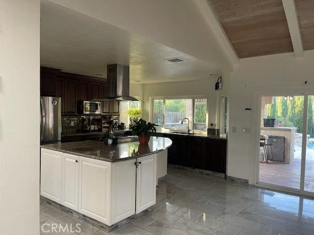
[[[240,65],[230,76],[230,128],[235,126],[236,133],[229,129],[228,175],[249,179],[254,183],[254,128],[255,111],[244,111],[254,107],[254,91],[285,91],[288,87],[314,85],[314,51],[306,51],[302,58],[293,53],[241,59]],[[304,82],[307,81],[307,85]],[[286,87],[286,88],[283,88]],[[313,91],[314,92],[314,91]],[[242,127],[250,127],[251,134],[242,133]]]

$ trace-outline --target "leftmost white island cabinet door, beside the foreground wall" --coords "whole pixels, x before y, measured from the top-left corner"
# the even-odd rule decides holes
[[[61,204],[62,152],[42,148],[40,172],[40,195]]]

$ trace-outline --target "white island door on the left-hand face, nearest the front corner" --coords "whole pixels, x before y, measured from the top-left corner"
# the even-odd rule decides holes
[[[110,163],[80,157],[79,164],[79,212],[108,225]]]

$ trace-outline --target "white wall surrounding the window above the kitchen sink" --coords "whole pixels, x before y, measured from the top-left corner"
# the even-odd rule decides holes
[[[144,104],[142,106],[143,118],[147,120],[149,119],[150,97],[204,95],[208,99],[209,123],[216,123],[219,125],[219,120],[216,120],[217,117],[219,118],[219,97],[220,94],[227,94],[229,88],[229,74],[223,74],[222,91],[215,91],[215,83],[215,78],[208,78],[206,80],[142,84],[144,100]]]

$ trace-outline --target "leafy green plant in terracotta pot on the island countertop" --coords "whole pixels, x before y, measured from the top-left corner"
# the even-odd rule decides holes
[[[134,136],[138,136],[138,141],[142,145],[148,144],[152,135],[157,137],[155,124],[147,122],[142,118],[136,120],[134,124],[131,125],[131,130]]]

